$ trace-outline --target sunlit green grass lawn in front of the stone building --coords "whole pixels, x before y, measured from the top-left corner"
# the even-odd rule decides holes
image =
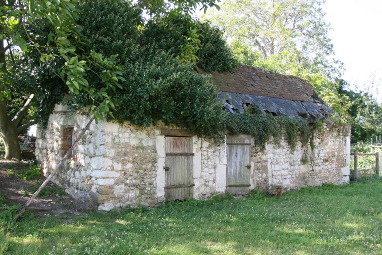
[[[0,223],[0,254],[382,254],[382,180]]]

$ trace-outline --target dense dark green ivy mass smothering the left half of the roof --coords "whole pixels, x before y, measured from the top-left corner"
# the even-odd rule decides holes
[[[223,130],[217,128],[223,111],[216,89],[208,76],[194,70],[199,66],[208,71],[229,71],[237,65],[221,30],[188,16],[158,16],[147,23],[141,16],[139,6],[122,0],[84,1],[79,5],[76,23],[87,38],[87,46],[79,52],[92,49],[103,56],[116,56],[124,78],[115,91],[107,92],[114,104],[111,114],[120,122],[148,126],[161,120],[221,137]],[[45,77],[41,82],[50,84],[50,76]],[[101,90],[103,84],[96,75],[90,72],[84,78],[92,89]],[[55,98],[55,102],[61,100]],[[45,103],[50,107],[42,104],[39,108],[43,120],[52,109],[52,100]],[[93,105],[94,99],[84,91],[68,104],[82,108]]]

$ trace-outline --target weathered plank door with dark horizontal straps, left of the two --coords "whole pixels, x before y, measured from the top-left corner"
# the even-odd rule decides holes
[[[185,200],[192,197],[192,137],[166,136],[167,200]]]

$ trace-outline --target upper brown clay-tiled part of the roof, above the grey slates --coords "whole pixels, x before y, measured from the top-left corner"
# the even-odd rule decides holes
[[[298,100],[301,102],[323,102],[316,91],[301,78],[282,75],[252,66],[240,66],[234,72],[209,73],[212,82],[222,92],[235,92],[258,96]]]

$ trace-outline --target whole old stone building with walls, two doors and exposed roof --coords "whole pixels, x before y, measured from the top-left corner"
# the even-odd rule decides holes
[[[91,125],[54,182],[84,206],[99,210],[349,182],[350,130],[325,123],[335,113],[305,80],[240,67],[213,73],[212,81],[232,114],[256,105],[264,114],[323,120],[323,131],[315,132],[307,145],[297,142],[294,150],[282,137],[279,144],[270,140],[258,151],[248,135],[227,134],[224,143],[214,145],[161,123],[143,128],[102,121]],[[86,114],[56,105],[48,127],[37,134],[36,157],[45,174],[88,120]]]

